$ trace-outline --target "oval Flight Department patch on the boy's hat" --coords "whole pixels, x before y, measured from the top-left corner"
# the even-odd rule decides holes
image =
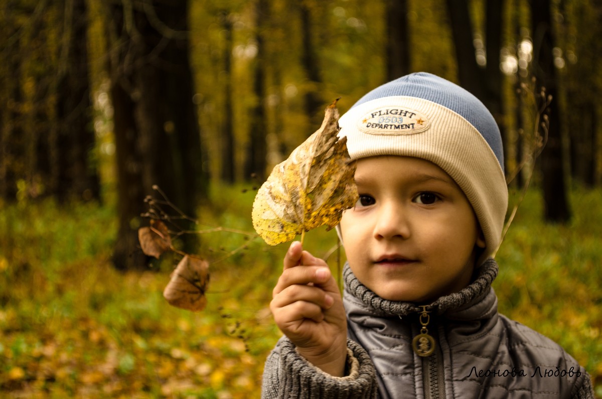
[[[429,121],[410,108],[380,107],[365,113],[358,128],[368,134],[414,134],[427,130]]]

